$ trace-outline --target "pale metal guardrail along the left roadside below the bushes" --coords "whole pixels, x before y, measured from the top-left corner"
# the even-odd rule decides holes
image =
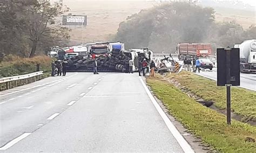
[[[17,76],[14,76],[14,77],[1,78],[0,79],[0,84],[6,84],[6,89],[9,89],[12,86],[12,84],[11,84],[12,81],[15,81],[15,84],[17,86],[17,81],[18,80],[26,79],[26,84],[28,84],[28,79],[29,78],[35,78],[35,81],[36,81],[36,77],[40,76],[42,74],[44,74],[43,71],[38,71],[38,72],[30,73],[30,74],[24,74],[24,75],[17,75]],[[2,86],[1,86],[0,91],[2,91]]]

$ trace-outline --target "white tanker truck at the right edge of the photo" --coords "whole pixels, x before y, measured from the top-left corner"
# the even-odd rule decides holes
[[[240,49],[240,72],[256,73],[256,39],[245,40],[234,47]]]

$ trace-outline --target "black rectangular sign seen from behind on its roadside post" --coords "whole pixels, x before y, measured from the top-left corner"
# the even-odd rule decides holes
[[[240,86],[239,48],[217,48],[217,86],[226,86],[227,124],[231,124],[231,86]]]

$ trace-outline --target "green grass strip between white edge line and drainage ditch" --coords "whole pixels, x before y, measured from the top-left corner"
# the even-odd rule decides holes
[[[188,98],[169,82],[148,78],[147,84],[170,113],[211,148],[221,152],[255,152],[256,143],[245,140],[256,139],[256,127],[235,120],[228,126],[224,115]]]

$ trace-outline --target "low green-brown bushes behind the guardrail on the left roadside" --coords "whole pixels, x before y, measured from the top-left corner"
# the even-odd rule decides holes
[[[50,57],[37,56],[35,58],[20,58],[8,55],[4,58],[2,64],[0,64],[0,78],[35,72],[37,64],[40,64],[40,69],[44,71],[44,73],[51,71]]]

